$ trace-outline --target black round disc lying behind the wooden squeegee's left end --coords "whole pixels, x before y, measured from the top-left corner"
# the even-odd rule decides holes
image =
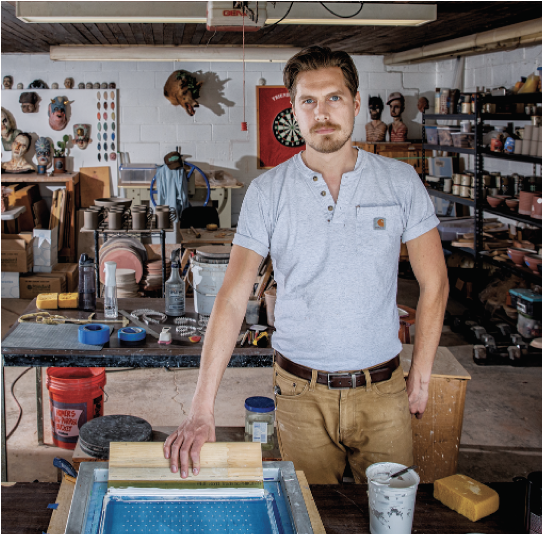
[[[81,450],[94,458],[109,459],[112,441],[150,441],[152,427],[133,415],[104,415],[91,419],[79,430]]]

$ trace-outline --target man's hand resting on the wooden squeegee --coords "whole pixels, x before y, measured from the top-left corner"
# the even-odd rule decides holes
[[[190,414],[188,419],[164,443],[164,458],[170,458],[171,472],[176,473],[181,463],[181,478],[188,477],[190,459],[194,476],[199,473],[199,454],[203,444],[216,441],[215,418],[212,413]]]

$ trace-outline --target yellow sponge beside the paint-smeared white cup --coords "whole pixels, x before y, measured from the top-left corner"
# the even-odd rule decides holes
[[[478,521],[499,509],[499,494],[465,475],[435,480],[433,496],[471,521]]]

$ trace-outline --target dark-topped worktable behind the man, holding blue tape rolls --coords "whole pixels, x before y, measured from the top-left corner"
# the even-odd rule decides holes
[[[163,311],[163,299],[119,299],[119,310],[131,312],[138,308],[150,308]],[[28,305],[25,314],[39,311],[35,299]],[[186,300],[187,316],[197,317],[194,312],[193,299]],[[87,318],[88,312],[79,310],[51,310],[51,313],[73,318]],[[119,315],[122,319],[122,316]],[[98,299],[96,319],[103,319],[103,300]],[[120,323],[119,325],[120,326]],[[42,367],[199,367],[201,343],[191,343],[187,338],[181,338],[175,332],[173,318],[165,323],[149,325],[155,332],[160,332],[162,326],[172,327],[173,341],[171,345],[159,345],[158,340],[147,335],[142,347],[121,347],[116,332],[113,332],[109,343],[101,351],[55,350],[55,349],[13,349],[2,347],[2,481],[7,478],[7,452],[4,408],[4,365],[10,367],[36,368],[36,402],[37,402],[37,431],[38,443],[43,444],[43,406],[42,406]],[[15,323],[6,337],[15,330]],[[52,327],[54,328],[54,327]],[[116,329],[116,327],[115,327]],[[230,359],[228,367],[271,367],[273,365],[273,350],[258,348],[253,345],[237,346]]]

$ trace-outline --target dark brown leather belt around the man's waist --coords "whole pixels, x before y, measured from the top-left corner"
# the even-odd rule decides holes
[[[312,379],[312,369],[310,367],[294,363],[292,360],[285,358],[280,352],[275,351],[275,361],[287,373],[303,378],[304,380],[310,381]],[[389,362],[372,367],[369,369],[371,382],[376,383],[389,380],[393,371],[399,367],[399,364],[399,356],[395,356],[395,358]],[[318,378],[316,381],[318,384],[324,384],[329,389],[353,389],[362,387],[366,384],[363,371],[353,371],[351,373],[322,373],[321,371],[318,371]]]

